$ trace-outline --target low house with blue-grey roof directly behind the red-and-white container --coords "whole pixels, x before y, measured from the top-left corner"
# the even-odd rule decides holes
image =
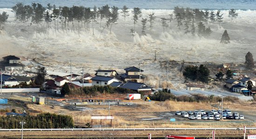
[[[152,92],[152,88],[149,87],[148,85],[146,85],[145,83],[141,83],[141,82],[126,82],[122,85],[120,85],[120,88],[126,88],[126,89],[131,89],[131,90],[135,90],[137,92],[146,92],[148,94],[151,94]]]

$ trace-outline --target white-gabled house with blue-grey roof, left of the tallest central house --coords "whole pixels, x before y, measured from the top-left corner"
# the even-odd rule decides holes
[[[92,79],[92,86],[105,86],[109,85],[112,82],[119,82],[119,80],[115,79],[114,77],[107,77],[107,76],[95,76]]]

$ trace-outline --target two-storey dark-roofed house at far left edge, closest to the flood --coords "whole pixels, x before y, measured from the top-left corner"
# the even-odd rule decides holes
[[[2,57],[4,60],[1,61],[0,65],[2,69],[5,70],[15,70],[15,69],[22,69],[23,65],[20,64],[20,58],[16,56],[6,56]]]

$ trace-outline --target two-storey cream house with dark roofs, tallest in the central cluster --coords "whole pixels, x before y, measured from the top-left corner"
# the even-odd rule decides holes
[[[125,81],[137,81],[137,82],[143,82],[144,77],[141,76],[143,70],[136,68],[135,66],[125,68],[125,73],[120,75],[120,78]]]

